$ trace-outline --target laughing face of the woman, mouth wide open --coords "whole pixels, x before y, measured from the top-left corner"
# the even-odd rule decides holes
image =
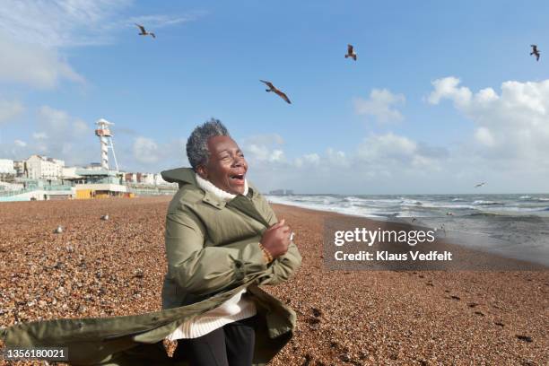
[[[229,136],[213,136],[208,140],[208,150],[208,161],[196,167],[200,177],[233,195],[243,194],[248,162],[239,145]]]

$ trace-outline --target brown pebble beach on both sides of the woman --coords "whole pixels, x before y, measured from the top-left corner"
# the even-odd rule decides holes
[[[169,199],[0,205],[0,327],[161,309]],[[343,216],[273,206],[303,256],[291,281],[265,287],[298,314],[273,365],[549,363],[549,271],[329,270],[324,220]]]

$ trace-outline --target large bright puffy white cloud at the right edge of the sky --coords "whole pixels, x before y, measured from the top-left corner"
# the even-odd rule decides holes
[[[485,88],[475,94],[455,77],[433,82],[431,103],[448,99],[475,122],[475,152],[490,161],[532,163],[549,168],[549,80],[501,83],[501,94]]]

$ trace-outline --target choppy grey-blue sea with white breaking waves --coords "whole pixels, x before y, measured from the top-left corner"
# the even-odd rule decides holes
[[[549,194],[266,197],[274,204],[409,222],[459,245],[549,266]]]

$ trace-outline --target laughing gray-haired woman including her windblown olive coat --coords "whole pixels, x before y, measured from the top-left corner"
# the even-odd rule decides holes
[[[62,361],[109,366],[265,365],[280,351],[295,313],[259,285],[300,266],[291,230],[248,184],[248,163],[221,122],[196,127],[187,155],[192,168],[162,172],[179,183],[166,216],[162,309],[0,327],[5,346],[65,347]],[[164,339],[178,340],[173,357]]]

